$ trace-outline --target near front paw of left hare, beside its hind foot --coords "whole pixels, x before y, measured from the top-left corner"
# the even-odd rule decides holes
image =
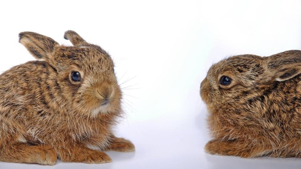
[[[84,163],[88,164],[102,164],[107,162],[112,162],[112,159],[104,152],[102,151],[96,151],[92,150],[89,152],[89,154],[82,154]]]

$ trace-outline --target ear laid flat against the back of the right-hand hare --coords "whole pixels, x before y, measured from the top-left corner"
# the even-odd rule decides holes
[[[301,74],[301,51],[290,50],[270,56],[268,70],[279,82]]]

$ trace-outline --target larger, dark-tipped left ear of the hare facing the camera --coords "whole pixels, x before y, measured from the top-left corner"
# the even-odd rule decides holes
[[[19,42],[38,60],[44,60],[59,46],[52,38],[34,32],[19,33]]]

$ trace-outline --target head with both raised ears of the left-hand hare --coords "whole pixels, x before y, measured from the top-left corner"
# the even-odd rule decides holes
[[[119,111],[121,91],[110,55],[74,31],[66,31],[64,38],[74,46],[59,45],[34,32],[19,34],[19,42],[34,58],[47,62],[53,69],[54,73],[49,74],[50,90],[59,87],[67,102],[60,104],[69,104],[71,109],[90,116]]]

